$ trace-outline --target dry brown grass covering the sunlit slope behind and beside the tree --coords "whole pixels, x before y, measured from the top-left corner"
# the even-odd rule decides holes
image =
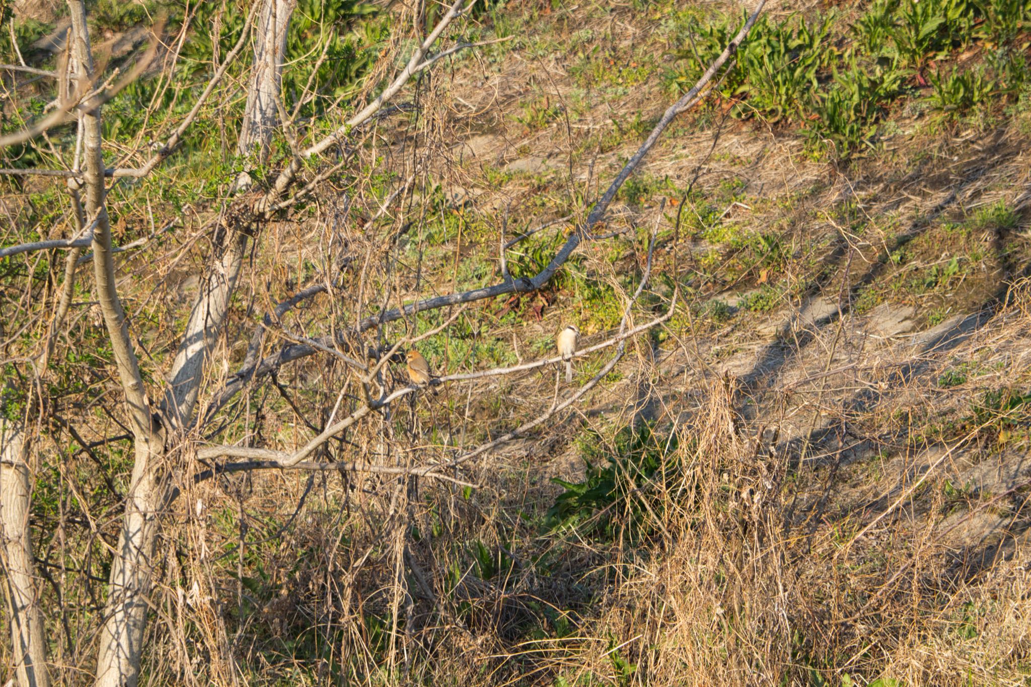
[[[616,57],[629,59],[651,20],[629,7],[599,16],[602,9],[569,10],[560,38],[609,31]],[[524,131],[513,119],[521,99],[574,96],[563,73],[570,65],[516,55],[495,74],[474,63],[420,84],[428,115],[386,121],[363,142],[369,169],[417,179],[402,209],[375,231],[364,220],[383,188],[363,175],[327,181],[310,214],[264,228],[234,332],[305,279],[344,281],[328,302],[276,322],[270,350],[291,336],[344,330],[380,307],[387,291],[388,306],[451,291],[466,261],[489,265],[493,275],[500,228],[507,237],[583,213],[606,166],[639,142],[627,135],[602,150],[590,137],[661,101],[655,83],[622,99],[593,94],[577,123],[584,128],[557,121]],[[633,340],[617,374],[586,403],[456,471],[478,485],[468,492],[330,471],[194,484],[204,466],[170,463],[182,494],[159,545],[145,684],[1027,684],[1028,417],[1009,409],[1012,417],[1002,419],[1010,426],[999,414],[975,412],[990,392],[1031,385],[1031,282],[1022,278],[1028,198],[1018,187],[1029,169],[1026,134],[1006,123],[973,135],[900,134],[896,150],[839,169],[808,159],[801,139],[784,131],[713,112],[692,113],[644,173],[672,179],[677,193],[658,194],[670,197],[697,177],[701,200],[685,212],[703,211],[722,182],[746,178],[747,207],[728,207],[727,224],[776,235],[790,248],[780,273],[764,276],[753,266],[729,274],[738,248],[686,230],[670,238],[672,222],[651,199],[617,208],[606,231],[626,235],[585,246],[570,284],[543,305],[516,300],[462,312],[454,330],[466,334],[446,332],[435,364],[486,365],[455,352],[470,339],[485,355],[531,359],[568,320],[591,320],[597,332],[581,329],[600,337],[614,322],[599,314],[600,299],[577,300],[576,288],[611,287],[619,314],[627,301],[621,277],[639,275],[643,259],[635,232],[656,220],[669,232],[657,272],[694,289],[662,338]],[[462,152],[458,139],[476,139],[476,154]],[[558,162],[498,181],[506,165],[537,153]],[[436,183],[453,201],[458,194],[475,202],[434,205]],[[999,200],[1022,213],[1011,231],[982,228],[961,241],[941,227]],[[462,217],[465,233],[438,241],[436,221],[445,215]],[[155,309],[159,332],[147,345],[158,360],[174,350],[175,308],[192,294],[180,282],[203,265],[197,246],[209,218],[188,217],[172,247],[125,268],[146,286],[134,294],[137,311]],[[900,236],[913,252],[908,266],[885,260],[903,247]],[[937,290],[893,285],[932,269],[945,248],[983,250],[984,269]],[[717,267],[705,271],[700,263],[710,251]],[[341,266],[355,255],[362,267],[348,272]],[[784,291],[769,311],[705,314],[709,299],[764,285]],[[917,308],[919,323],[885,334],[857,307],[865,288],[880,289],[890,311]],[[656,286],[647,307],[668,296]],[[813,304],[842,311],[824,308],[813,318]],[[932,328],[928,315],[949,305],[954,310]],[[88,312],[73,327],[88,329]],[[645,307],[634,312],[636,321],[646,316]],[[414,335],[419,323],[376,338]],[[213,357],[235,369],[244,350],[230,341]],[[939,382],[957,370],[965,381]],[[387,371],[388,383],[404,383],[401,368]],[[217,389],[225,373],[210,379],[208,390]],[[274,384],[242,393],[220,441],[296,447],[310,437],[308,422],[325,424],[341,390],[362,396],[331,356],[299,363]],[[451,385],[439,400],[421,394],[348,433],[322,457],[446,462],[546,409],[554,392],[550,372]],[[87,427],[85,441],[121,434],[117,396],[106,390],[91,403],[99,417],[73,418]],[[585,436],[596,433],[601,455],[618,459],[619,433],[645,423],[668,470],[640,479],[632,462],[621,462],[618,497],[578,527],[550,528],[547,511],[562,491],[550,480],[585,479]],[[35,447],[40,471],[61,489],[39,495],[53,499],[40,509],[40,529],[51,536],[39,547],[49,563],[42,569],[48,620],[60,637],[52,658],[65,684],[77,685],[88,682],[82,666],[94,653],[91,627],[125,469],[117,453],[103,453],[98,469],[101,460],[77,443],[69,449],[61,432]],[[673,435],[675,448],[662,448],[659,440]],[[108,475],[112,484],[97,487]],[[609,518],[602,531],[592,528]]]

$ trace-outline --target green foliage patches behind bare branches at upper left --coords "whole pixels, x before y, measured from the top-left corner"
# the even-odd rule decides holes
[[[157,130],[163,125],[176,123],[190,110],[195,97],[239,39],[247,6],[238,2],[193,5],[181,0],[130,3],[96,0],[88,3],[87,11],[91,28],[98,35],[103,31],[121,32],[139,25],[159,25],[162,20],[166,33],[174,34],[189,22],[189,38],[181,45],[179,62],[170,79],[139,78],[104,106],[105,140],[135,147],[141,131]],[[51,25],[33,20],[14,21],[11,26],[14,41],[23,53],[53,29]],[[356,93],[378,57],[377,45],[383,43],[389,31],[389,16],[364,0],[300,0],[287,36],[287,63],[290,67],[284,70],[282,88],[288,111],[293,110],[294,103],[300,102],[298,116],[301,119],[317,118],[332,103]],[[9,36],[0,39],[0,48],[6,62],[15,61]],[[239,78],[248,68],[248,54],[244,50],[230,67],[230,78]],[[135,53],[120,58],[130,62],[135,59]],[[309,96],[304,97],[305,93]],[[26,122],[41,114],[49,99],[51,95],[44,92],[20,98],[16,107],[0,114],[0,133],[24,128]],[[242,100],[233,99],[212,102],[200,112],[179,152],[197,175],[182,187],[162,184],[168,194],[166,200],[176,205],[194,202],[213,195],[215,190],[210,184],[226,183],[235,178],[244,161],[233,159],[230,151],[234,148],[234,141],[231,139],[239,129],[242,108]],[[212,135],[215,132],[221,132],[222,136]],[[61,145],[71,145],[73,136],[72,125],[52,131],[53,140]],[[3,156],[4,166],[8,167],[39,166],[44,163],[45,157],[33,144],[13,146],[0,154]],[[275,165],[279,158],[287,154],[285,141],[275,141],[270,164]],[[256,170],[253,175],[261,177],[263,171]],[[200,184],[197,183],[198,177]]]

